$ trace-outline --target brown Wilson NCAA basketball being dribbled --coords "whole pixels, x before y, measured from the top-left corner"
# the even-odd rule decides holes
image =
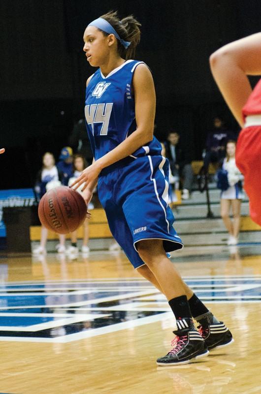
[[[38,216],[48,230],[67,234],[80,227],[86,219],[87,207],[83,197],[67,186],[49,190],[40,200]]]

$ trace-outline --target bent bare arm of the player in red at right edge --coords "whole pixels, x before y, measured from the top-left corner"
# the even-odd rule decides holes
[[[252,92],[247,75],[261,74],[261,33],[218,49],[210,56],[210,67],[231,112],[243,126],[241,111]]]

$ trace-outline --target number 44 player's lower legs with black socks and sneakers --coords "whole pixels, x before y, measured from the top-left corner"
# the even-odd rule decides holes
[[[231,343],[232,335],[228,328],[197,298],[166,257],[162,240],[142,240],[137,246],[139,256],[146,263],[138,271],[165,294],[177,321],[178,330],[173,331],[176,335],[174,347],[166,356],[157,360],[158,365],[188,363],[191,359],[207,356],[207,348]],[[200,335],[196,331],[192,315],[200,324]],[[215,329],[218,329],[218,334],[213,334]],[[202,338],[205,339],[204,344]]]

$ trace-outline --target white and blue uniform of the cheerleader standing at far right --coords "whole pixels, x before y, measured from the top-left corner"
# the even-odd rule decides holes
[[[227,190],[221,192],[221,198],[228,200],[243,199],[245,196],[240,181],[243,181],[244,177],[235,164],[235,158],[229,160],[226,158],[222,167],[228,171],[228,183],[230,186]]]

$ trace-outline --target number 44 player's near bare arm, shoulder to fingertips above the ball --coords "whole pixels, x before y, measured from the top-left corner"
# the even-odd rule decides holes
[[[135,97],[136,130],[116,148],[87,167],[72,186],[77,185],[78,188],[85,183],[82,189],[84,190],[98,177],[103,168],[130,156],[138,148],[153,139],[156,95],[152,74],[144,64],[138,65],[135,69],[133,92]]]

